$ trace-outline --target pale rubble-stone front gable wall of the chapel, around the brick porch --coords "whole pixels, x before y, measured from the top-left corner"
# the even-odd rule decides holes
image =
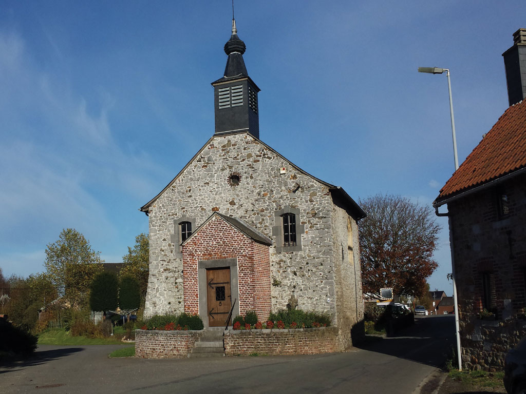
[[[285,167],[287,172],[280,174]],[[241,182],[227,178],[239,173]],[[299,185],[299,189],[297,186]],[[296,190],[297,189],[297,190]],[[297,171],[247,133],[217,136],[198,152],[179,177],[150,206],[150,275],[145,316],[183,310],[183,262],[170,242],[173,220],[195,217],[202,224],[216,208],[239,217],[274,242],[274,212],[284,206],[300,210],[305,225],[302,250],[277,253],[270,247],[272,309],[284,308],[292,293],[298,307],[336,313],[331,237],[331,197],[328,187]],[[325,282],[325,283],[324,283]]]

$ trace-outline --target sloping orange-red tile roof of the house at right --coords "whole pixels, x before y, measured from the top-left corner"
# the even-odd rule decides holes
[[[526,100],[509,107],[440,190],[433,205],[526,167]]]

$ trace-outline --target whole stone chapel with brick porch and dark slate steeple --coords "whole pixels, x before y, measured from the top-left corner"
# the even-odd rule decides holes
[[[257,312],[261,321],[296,306],[331,315],[341,344],[363,320],[360,206],[340,186],[313,177],[262,142],[259,88],[245,43],[225,44],[214,87],[215,132],[140,208],[149,220],[144,315],[199,314],[205,327]]]

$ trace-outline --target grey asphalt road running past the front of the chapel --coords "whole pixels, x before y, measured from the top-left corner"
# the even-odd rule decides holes
[[[0,392],[410,394],[443,364],[453,332],[450,316],[418,318],[397,337],[314,356],[110,359],[121,345],[41,346],[0,366]]]

